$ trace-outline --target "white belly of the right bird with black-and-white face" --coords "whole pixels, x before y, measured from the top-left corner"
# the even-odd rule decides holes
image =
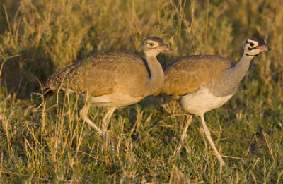
[[[202,115],[207,111],[216,109],[227,102],[233,94],[226,97],[216,97],[207,88],[200,88],[196,92],[187,94],[180,99],[180,104],[185,111],[191,114]]]

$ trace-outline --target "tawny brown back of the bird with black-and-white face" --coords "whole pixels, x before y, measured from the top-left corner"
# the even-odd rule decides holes
[[[191,55],[184,56],[165,69],[163,92],[166,94],[184,95],[202,87],[213,85],[221,78],[233,62],[221,56]]]

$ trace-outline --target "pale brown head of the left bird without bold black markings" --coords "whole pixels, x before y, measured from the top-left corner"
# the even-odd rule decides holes
[[[159,37],[147,37],[142,44],[142,49],[146,56],[157,56],[161,51],[171,50]]]

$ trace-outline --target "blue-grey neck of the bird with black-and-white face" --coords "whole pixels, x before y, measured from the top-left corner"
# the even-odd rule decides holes
[[[241,80],[245,77],[246,73],[248,72],[248,68],[250,67],[250,61],[252,61],[253,56],[247,56],[243,54],[240,61],[233,66],[226,70],[224,73],[223,83],[225,83],[226,87],[231,88],[231,90],[235,90],[240,85]]]

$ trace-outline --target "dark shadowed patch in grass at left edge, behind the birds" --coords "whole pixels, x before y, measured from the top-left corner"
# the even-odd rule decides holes
[[[6,95],[16,93],[17,98],[30,99],[31,92],[40,92],[40,82],[54,72],[54,64],[43,47],[29,47],[10,57],[0,57],[1,90]]]

